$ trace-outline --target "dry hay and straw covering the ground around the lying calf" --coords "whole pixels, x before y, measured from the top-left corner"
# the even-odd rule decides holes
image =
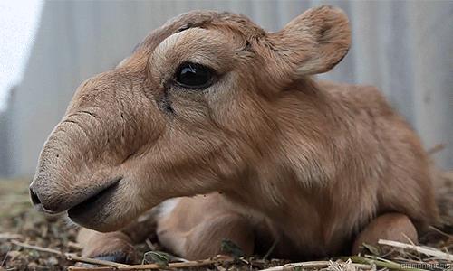
[[[442,178],[453,183],[453,173]],[[445,180],[447,180],[445,179]],[[30,208],[28,183],[0,181],[0,270],[143,270],[176,268],[198,270],[453,270],[453,228],[431,229],[421,239],[423,247],[381,241],[381,246],[366,246],[369,255],[341,257],[333,260],[290,263],[261,257],[217,257],[204,262],[153,263],[148,266],[124,266],[101,263],[103,267],[73,267],[80,247],[74,242],[76,229],[62,218],[44,218]],[[452,189],[453,191],[453,189]],[[449,192],[449,191],[448,191]],[[453,199],[452,199],[453,201]],[[453,211],[451,201],[443,202],[445,211]],[[453,217],[453,216],[452,216]],[[453,223],[452,223],[453,224]],[[150,248],[161,249],[157,240],[137,247],[140,256]],[[450,257],[450,258],[448,258]],[[143,258],[143,257],[140,257]],[[99,263],[98,263],[99,264]],[[142,263],[137,263],[142,264]],[[93,269],[94,268],[94,269]],[[266,269],[267,268],[267,269]]]

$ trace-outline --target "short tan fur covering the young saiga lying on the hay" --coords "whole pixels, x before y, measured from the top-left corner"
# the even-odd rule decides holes
[[[206,194],[158,221],[163,245],[190,258],[218,253],[222,238],[247,253],[276,240],[279,257],[336,255],[389,212],[426,229],[438,210],[418,136],[378,89],[309,77],[350,41],[329,6],[277,33],[236,14],[180,15],[77,89],[43,147],[35,203],[112,231],[169,198]],[[178,87],[185,61],[216,70],[214,84]]]

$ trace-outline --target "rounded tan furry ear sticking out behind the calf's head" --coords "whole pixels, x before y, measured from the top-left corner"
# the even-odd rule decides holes
[[[310,75],[331,70],[342,61],[351,44],[351,30],[342,10],[323,5],[307,10],[268,38],[281,59],[277,62],[284,61],[281,68]]]

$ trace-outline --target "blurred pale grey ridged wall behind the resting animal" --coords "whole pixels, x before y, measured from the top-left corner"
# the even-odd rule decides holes
[[[379,87],[453,168],[452,1],[0,1],[0,176],[30,178],[77,86],[150,31],[194,9],[246,14],[276,31],[314,5],[350,17],[352,48],[320,76]]]

